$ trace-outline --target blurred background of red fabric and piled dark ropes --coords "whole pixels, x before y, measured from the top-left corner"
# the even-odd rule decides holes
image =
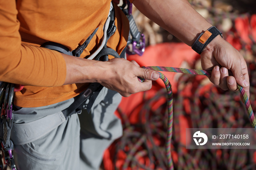
[[[189,0],[223,38],[243,55],[250,76],[250,102],[256,111],[256,1]],[[130,55],[140,66],[202,69],[200,55],[169,32],[146,18],[133,6],[133,17],[146,37],[142,57]],[[163,72],[172,84],[174,125],[172,159],[178,170],[256,169],[254,149],[185,148],[186,128],[252,128],[240,93],[223,91],[205,76]],[[106,150],[104,170],[167,170],[165,138],[167,94],[162,80],[147,92],[123,98],[116,115],[122,119],[124,135]]]

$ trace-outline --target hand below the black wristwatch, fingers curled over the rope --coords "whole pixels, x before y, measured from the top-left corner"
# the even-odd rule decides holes
[[[249,75],[242,55],[221,36],[217,36],[201,53],[202,68],[212,70],[210,81],[223,90],[237,90],[241,85],[249,98]],[[230,74],[229,74],[230,72]]]

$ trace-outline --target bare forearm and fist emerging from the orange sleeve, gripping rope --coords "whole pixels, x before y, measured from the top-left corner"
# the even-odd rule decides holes
[[[151,89],[151,80],[157,80],[159,73],[140,68],[135,61],[113,58],[109,61],[95,61],[62,54],[67,76],[64,85],[85,82],[98,82],[108,89],[115,90],[124,97]],[[146,79],[140,82],[138,77]]]

